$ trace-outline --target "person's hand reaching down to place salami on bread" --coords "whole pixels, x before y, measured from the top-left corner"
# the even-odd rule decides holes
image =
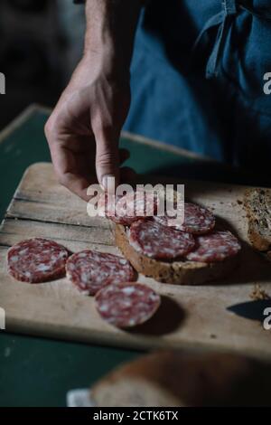
[[[111,60],[110,60],[111,63]],[[117,75],[92,53],[74,72],[45,126],[51,159],[61,184],[88,200],[87,188],[106,176],[119,181],[119,165],[128,156],[118,140],[130,105],[129,76]],[[122,177],[129,177],[122,170]]]

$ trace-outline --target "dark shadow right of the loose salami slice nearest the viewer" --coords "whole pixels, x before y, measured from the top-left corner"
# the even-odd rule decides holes
[[[185,320],[184,309],[173,298],[161,296],[161,306],[145,324],[129,330],[130,334],[166,335],[182,326]]]

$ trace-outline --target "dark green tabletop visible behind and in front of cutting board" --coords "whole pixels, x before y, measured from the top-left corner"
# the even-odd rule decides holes
[[[43,135],[46,115],[37,110],[0,143],[0,216],[3,217],[24,170],[50,161]],[[122,139],[131,151],[126,165],[138,173],[179,170],[191,160]],[[1,307],[1,299],[0,299]],[[83,345],[0,331],[0,406],[63,406],[66,392],[88,387],[135,351]]]

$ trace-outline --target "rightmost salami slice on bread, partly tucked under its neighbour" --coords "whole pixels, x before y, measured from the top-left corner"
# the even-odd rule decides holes
[[[214,262],[236,255],[241,249],[238,239],[230,231],[215,231],[198,236],[197,248],[187,254],[187,260]]]

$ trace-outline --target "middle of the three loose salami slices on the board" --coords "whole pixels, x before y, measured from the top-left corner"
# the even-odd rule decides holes
[[[82,250],[71,255],[66,270],[68,279],[86,295],[95,295],[109,284],[135,280],[135,270],[129,261],[95,250]]]

